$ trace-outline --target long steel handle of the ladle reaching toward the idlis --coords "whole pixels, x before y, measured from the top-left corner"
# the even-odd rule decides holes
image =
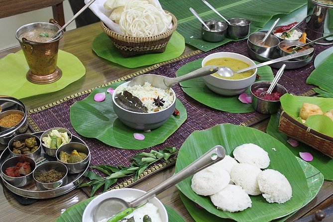
[[[217,145],[213,147],[211,150],[206,152],[203,156],[199,157],[199,159],[195,160],[193,163],[179,171],[178,173],[174,174],[168,180],[165,180],[157,187],[151,189],[143,196],[137,198],[136,200],[129,203],[130,207],[136,207],[141,203],[144,203],[151,198],[155,197],[157,194],[161,193],[162,191],[168,189],[169,187],[177,184],[178,182],[184,180],[188,176],[191,176],[198,171],[211,166],[212,164],[222,160],[225,156],[225,150],[221,145]]]

